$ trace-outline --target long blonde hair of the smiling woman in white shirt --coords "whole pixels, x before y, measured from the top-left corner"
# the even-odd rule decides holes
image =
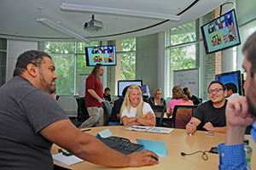
[[[127,109],[128,113],[130,113],[131,111],[131,101],[129,99],[129,96],[131,94],[131,90],[133,89],[138,89],[140,94],[141,94],[141,99],[140,99],[140,103],[137,105],[137,110],[136,110],[136,115],[140,118],[143,118],[143,95],[142,95],[142,89],[137,86],[136,84],[131,84],[131,86],[127,89],[127,92],[125,94],[125,100],[123,102],[123,105],[121,107],[121,111],[120,114],[122,115],[122,112],[125,110],[125,108]]]

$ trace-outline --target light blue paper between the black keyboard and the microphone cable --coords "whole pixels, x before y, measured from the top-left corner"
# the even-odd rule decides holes
[[[146,139],[136,139],[137,144],[143,144],[143,150],[151,150],[160,157],[167,156],[166,143],[163,141],[154,141]]]

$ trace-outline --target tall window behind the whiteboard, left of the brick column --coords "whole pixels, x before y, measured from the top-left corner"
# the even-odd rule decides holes
[[[172,97],[173,71],[195,68],[195,20],[166,31],[166,97]]]

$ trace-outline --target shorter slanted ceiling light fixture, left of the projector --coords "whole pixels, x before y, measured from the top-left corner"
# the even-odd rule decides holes
[[[82,42],[90,43],[90,40],[85,39],[84,37],[79,36],[78,34],[74,33],[73,31],[70,31],[63,26],[56,24],[52,20],[49,20],[46,18],[37,19],[37,20],[38,20],[38,22],[43,23],[44,25],[49,26],[49,27],[55,29],[56,31],[61,31],[62,33],[67,34],[68,36],[75,37],[75,38],[81,40]]]

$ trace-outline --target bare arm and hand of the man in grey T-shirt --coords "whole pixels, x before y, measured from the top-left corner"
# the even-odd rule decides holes
[[[142,167],[158,163],[158,161],[151,157],[158,156],[149,150],[135,152],[127,156],[112,150],[94,136],[81,132],[67,119],[44,127],[40,133],[45,139],[58,144],[75,156],[98,165],[108,167]]]

